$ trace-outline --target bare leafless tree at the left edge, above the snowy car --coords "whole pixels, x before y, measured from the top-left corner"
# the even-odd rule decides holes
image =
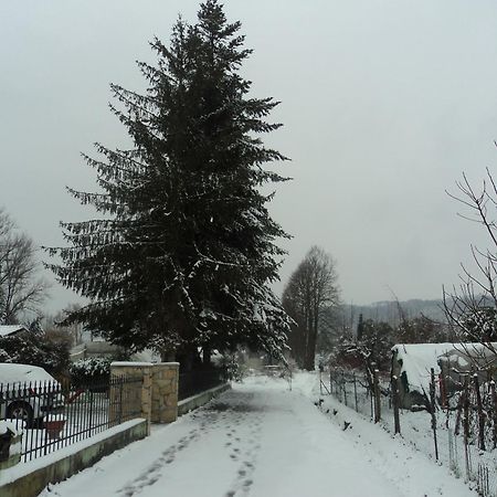
[[[0,324],[15,322],[25,311],[36,313],[46,297],[35,252],[33,241],[0,209]]]

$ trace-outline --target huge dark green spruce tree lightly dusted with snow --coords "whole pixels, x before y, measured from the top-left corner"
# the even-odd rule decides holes
[[[85,156],[102,192],[70,191],[101,216],[62,223],[68,246],[51,248],[62,261],[51,267],[89,298],[70,320],[113,342],[163,356],[284,347],[288,317],[268,284],[286,235],[261,187],[284,180],[264,166],[285,157],[260,138],[281,126],[265,120],[277,103],[247,95],[240,27],[208,0],[195,24],[176,23],[169,46],[151,43],[145,95],[112,85],[134,146]]]

